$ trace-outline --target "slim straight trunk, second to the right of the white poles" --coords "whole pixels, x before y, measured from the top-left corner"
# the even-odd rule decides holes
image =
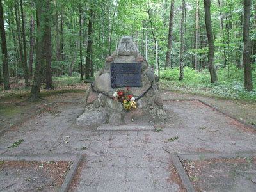
[[[185,17],[185,0],[182,0],[182,16],[181,16],[181,22],[180,22],[180,77],[179,81],[183,79],[183,65],[184,65],[184,17]]]

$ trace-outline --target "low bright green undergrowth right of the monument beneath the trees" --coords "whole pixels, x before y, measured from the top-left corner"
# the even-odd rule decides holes
[[[228,99],[246,99],[256,101],[256,91],[244,90],[244,71],[230,66],[230,77],[227,77],[227,68],[218,69],[219,81],[211,83],[208,70],[198,72],[190,67],[184,67],[184,80],[179,81],[179,68],[164,70],[161,72],[163,88],[183,90],[192,93],[208,93]],[[256,72],[252,71],[253,87],[256,88]]]

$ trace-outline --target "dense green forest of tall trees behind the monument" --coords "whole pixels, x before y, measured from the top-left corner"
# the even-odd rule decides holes
[[[255,0],[1,0],[1,12],[0,82],[24,78],[33,99],[52,76],[93,78],[124,35],[165,82],[195,70],[207,83],[255,85]]]

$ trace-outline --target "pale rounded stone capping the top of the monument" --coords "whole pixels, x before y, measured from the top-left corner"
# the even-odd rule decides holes
[[[117,49],[117,55],[119,56],[128,56],[128,55],[134,55],[138,56],[139,49],[134,44],[131,36],[122,36],[120,39],[118,49]]]

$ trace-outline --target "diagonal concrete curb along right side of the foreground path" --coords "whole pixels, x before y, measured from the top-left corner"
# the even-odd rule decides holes
[[[180,159],[177,154],[170,154],[172,157],[173,164],[175,168],[177,169],[177,172],[179,173],[180,179],[182,180],[182,184],[187,192],[196,192],[193,188],[193,185],[191,184],[188,175],[186,174]]]

